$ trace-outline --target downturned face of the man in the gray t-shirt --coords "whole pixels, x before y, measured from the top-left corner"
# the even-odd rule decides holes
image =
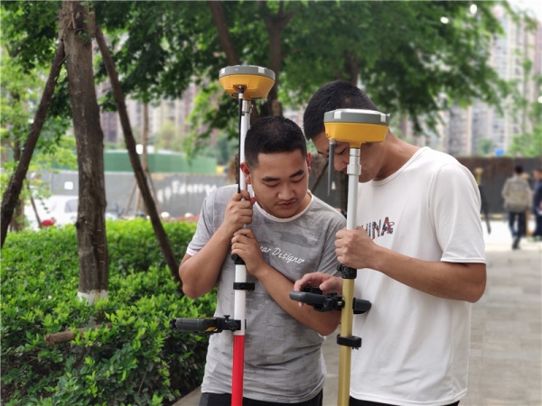
[[[293,217],[310,201],[308,194],[310,155],[301,151],[260,153],[257,168],[241,164],[247,183],[252,185],[257,203],[279,218]]]

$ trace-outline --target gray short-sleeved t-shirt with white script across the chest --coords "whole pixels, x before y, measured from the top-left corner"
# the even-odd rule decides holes
[[[236,191],[237,186],[226,186],[205,199],[187,254],[197,254],[209,241]],[[266,263],[296,281],[308,272],[339,274],[335,233],[345,225],[337,210],[312,196],[304,212],[290,218],[273,217],[255,204],[249,227]],[[216,317],[233,315],[234,279],[235,264],[229,254],[220,272]],[[281,403],[312,399],[325,377],[323,337],[288,315],[249,274],[247,281],[256,282],[256,289],[247,292],[243,396]],[[233,333],[223,331],[210,337],[202,392],[231,392],[232,349]]]

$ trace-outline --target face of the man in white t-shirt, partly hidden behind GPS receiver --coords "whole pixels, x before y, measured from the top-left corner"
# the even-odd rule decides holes
[[[312,139],[316,150],[324,156],[329,156],[330,142],[325,133],[316,134]],[[378,171],[381,169],[381,165],[378,165],[378,144],[377,143],[364,143],[360,147],[360,163],[361,174],[360,182],[367,182],[369,180],[378,180]],[[342,171],[346,173],[346,167],[350,162],[350,144],[349,143],[336,143],[335,153],[333,157],[333,166],[335,171]]]

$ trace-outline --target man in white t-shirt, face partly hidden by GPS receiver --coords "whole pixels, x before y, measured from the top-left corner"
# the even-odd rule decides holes
[[[339,108],[378,111],[350,82],[334,81],[313,96],[304,133],[329,153],[323,115]],[[334,165],[345,171],[348,143]],[[356,230],[337,234],[340,263],[359,269],[357,298],[368,313],[353,318],[363,345],[352,351],[350,405],[456,405],[467,390],[471,302],[485,290],[480,192],[453,157],[405,143],[388,131],[360,148]],[[312,273],[294,290],[341,291],[339,277]]]

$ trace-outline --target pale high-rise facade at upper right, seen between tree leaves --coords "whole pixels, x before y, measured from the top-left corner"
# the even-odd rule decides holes
[[[542,23],[532,32],[501,6],[495,7],[494,13],[504,34],[492,43],[490,65],[500,78],[513,82],[529,104],[537,103],[542,95],[534,76],[542,73]],[[454,156],[500,156],[508,152],[515,135],[533,131],[530,107],[515,106],[512,97],[501,106],[503,114],[480,100],[467,108],[453,107],[444,126],[444,151]]]

